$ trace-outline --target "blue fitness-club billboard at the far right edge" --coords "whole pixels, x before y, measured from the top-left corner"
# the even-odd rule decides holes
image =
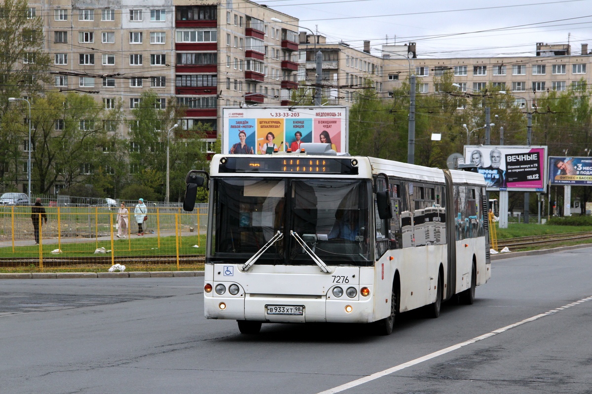
[[[549,156],[549,183],[592,185],[592,157]]]

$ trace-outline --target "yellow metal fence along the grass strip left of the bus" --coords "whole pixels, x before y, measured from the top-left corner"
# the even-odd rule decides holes
[[[128,206],[128,226],[118,229],[117,208],[46,207],[47,223],[31,207],[0,207],[0,269],[11,271],[127,271],[199,269],[204,261],[207,204],[194,211],[148,206],[143,235]],[[40,223],[36,245],[34,220]],[[118,236],[119,235],[119,236]]]

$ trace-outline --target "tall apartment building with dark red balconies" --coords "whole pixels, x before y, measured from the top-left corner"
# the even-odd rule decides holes
[[[249,0],[31,0],[43,18],[53,89],[133,109],[152,89],[186,105],[182,129],[221,128],[223,106],[288,105],[297,86],[298,19]],[[121,126],[121,132],[127,132]]]

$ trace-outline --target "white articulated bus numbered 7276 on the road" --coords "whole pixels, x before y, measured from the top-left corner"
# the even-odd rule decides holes
[[[200,173],[204,177],[200,176]],[[472,304],[491,276],[482,175],[358,156],[214,155],[190,171],[185,209],[210,189],[205,317],[374,323]]]

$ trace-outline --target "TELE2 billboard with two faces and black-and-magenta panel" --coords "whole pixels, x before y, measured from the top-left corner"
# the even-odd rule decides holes
[[[546,146],[465,145],[464,157],[477,165],[490,190],[546,189]]]

